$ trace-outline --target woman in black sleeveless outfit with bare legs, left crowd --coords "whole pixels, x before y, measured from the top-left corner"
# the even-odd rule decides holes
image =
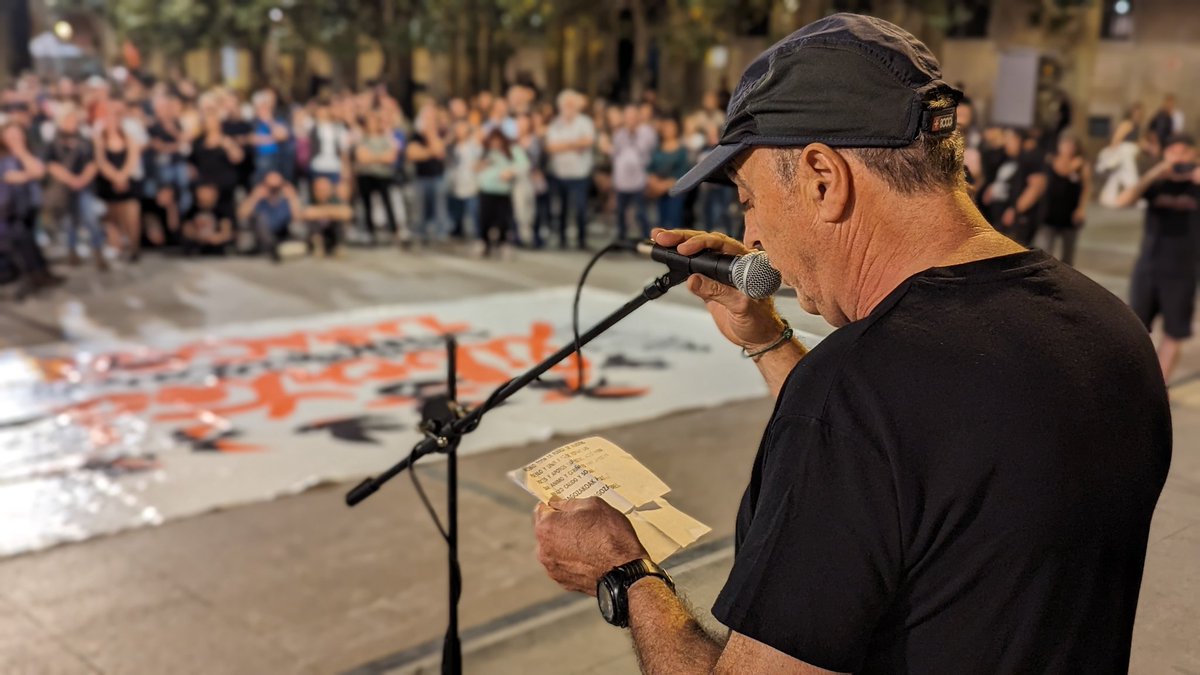
[[[124,117],[124,106],[110,103],[108,117],[96,130],[96,196],[106,205],[109,241],[116,243],[126,261],[137,262],[142,251],[142,202],[134,173],[142,147],[126,133]]]

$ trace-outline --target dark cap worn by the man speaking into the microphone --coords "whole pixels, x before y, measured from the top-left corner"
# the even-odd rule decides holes
[[[839,13],[776,42],[742,73],[716,148],[671,189],[730,183],[727,165],[755,145],[902,148],[922,132],[950,133],[962,92],[942,80],[937,59],[900,26]]]

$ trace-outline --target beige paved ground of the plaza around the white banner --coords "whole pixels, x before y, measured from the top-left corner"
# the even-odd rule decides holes
[[[1118,293],[1136,244],[1132,216],[1096,219],[1079,259]],[[583,262],[577,253],[481,263],[450,252],[397,251],[281,267],[148,258],[104,279],[77,274],[66,289],[38,301],[0,305],[0,340],[137,335],[156,322],[199,328],[566,285]],[[634,259],[606,262],[593,283],[632,294],[655,269]],[[796,310],[788,315],[804,328],[821,328]],[[1189,377],[1200,370],[1198,356],[1189,354],[1174,389],[1176,453],[1151,536],[1135,673],[1200,673],[1200,381]],[[769,401],[748,401],[605,431],[673,488],[673,503],[713,526],[674,562],[698,607],[715,596],[730,563],[733,514],[769,410]],[[470,673],[636,669],[628,639],[599,620],[592,601],[560,593],[542,577],[532,556],[532,503],[503,476],[565,440],[462,462],[462,620]],[[420,476],[440,503],[442,466],[426,466]],[[354,510],[342,506],[346,489],[326,486],[0,561],[0,673],[433,671],[444,622],[444,546],[406,482]]]

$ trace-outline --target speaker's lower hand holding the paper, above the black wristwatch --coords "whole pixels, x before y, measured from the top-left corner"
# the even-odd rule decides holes
[[[649,557],[629,520],[600,497],[538,503],[534,534],[550,578],[589,596],[613,567]]]

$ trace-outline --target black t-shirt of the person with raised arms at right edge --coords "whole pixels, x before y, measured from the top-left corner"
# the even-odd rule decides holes
[[[1196,275],[1196,227],[1200,227],[1200,185],[1190,180],[1159,180],[1146,190],[1146,228],[1138,268],[1162,276]]]

